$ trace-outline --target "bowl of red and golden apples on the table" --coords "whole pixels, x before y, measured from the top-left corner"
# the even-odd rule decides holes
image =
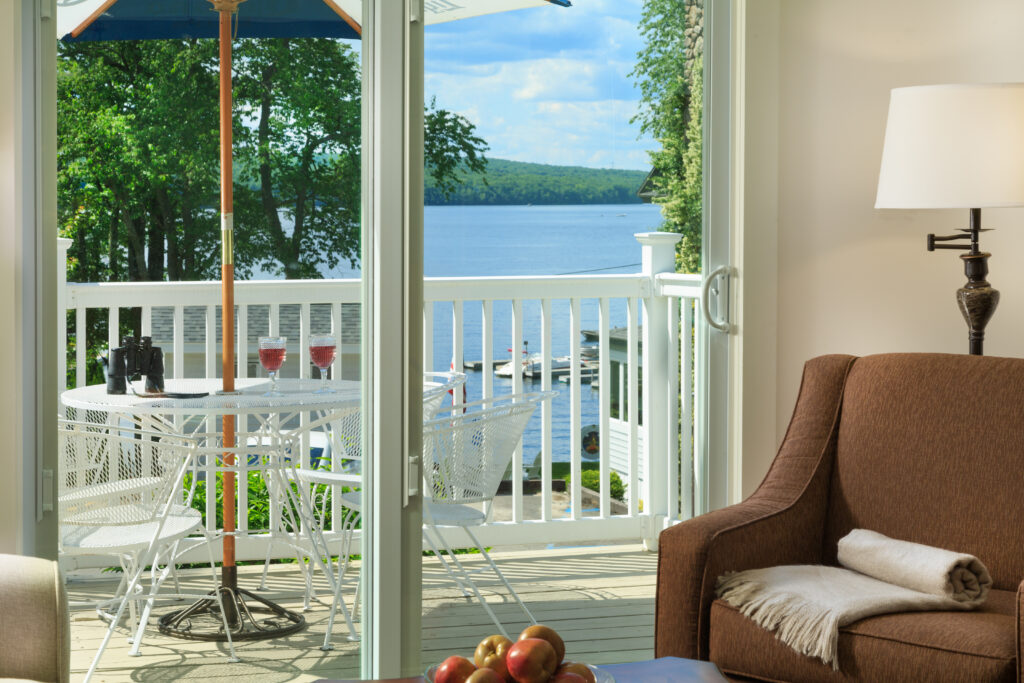
[[[614,683],[611,674],[565,660],[565,642],[558,633],[536,624],[512,642],[487,636],[473,657],[453,654],[427,670],[430,683]]]

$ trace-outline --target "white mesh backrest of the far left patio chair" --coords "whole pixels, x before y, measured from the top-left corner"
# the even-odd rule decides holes
[[[109,526],[161,518],[185,502],[182,480],[195,451],[195,441],[181,436],[59,421],[60,524]]]

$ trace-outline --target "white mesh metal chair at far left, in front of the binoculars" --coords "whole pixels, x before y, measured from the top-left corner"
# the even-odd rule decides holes
[[[130,654],[137,655],[154,602],[180,555],[181,542],[201,535],[210,559],[212,589],[217,586],[214,535],[203,527],[202,515],[190,507],[196,487],[196,441],[181,436],[125,429],[96,423],[59,421],[60,552],[68,555],[118,557],[123,578],[114,598],[97,606],[110,628],[93,657],[85,680],[96,670],[103,650],[120,625],[125,609],[143,602],[134,629]],[[191,470],[186,489],[185,474]],[[143,586],[150,571],[148,590]],[[161,597],[167,597],[163,595]],[[179,598],[209,598],[208,594],[174,593]],[[220,593],[216,592],[220,602]],[[117,608],[110,615],[105,609]],[[131,609],[134,616],[134,609]],[[221,605],[221,616],[224,611]],[[224,621],[230,657],[237,659],[230,630]]]

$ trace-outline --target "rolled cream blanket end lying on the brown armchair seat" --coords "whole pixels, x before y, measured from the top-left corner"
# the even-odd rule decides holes
[[[973,555],[897,541],[863,528],[840,539],[839,563],[887,584],[946,597],[964,606],[983,603],[992,586],[988,569]]]

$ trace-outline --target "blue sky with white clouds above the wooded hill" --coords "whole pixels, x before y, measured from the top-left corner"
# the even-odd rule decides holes
[[[573,0],[427,27],[425,92],[472,121],[497,159],[649,168],[630,123],[642,0]]]

